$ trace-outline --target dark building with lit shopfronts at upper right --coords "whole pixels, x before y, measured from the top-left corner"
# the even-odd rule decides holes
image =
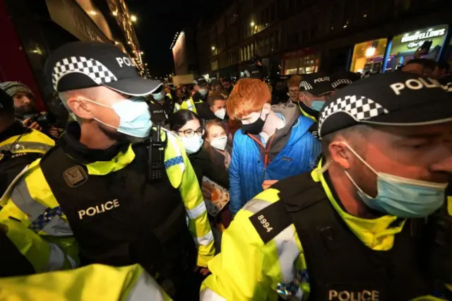
[[[273,76],[393,70],[432,38],[444,57],[451,13],[450,0],[237,0],[198,24],[199,70],[236,76],[254,56]]]

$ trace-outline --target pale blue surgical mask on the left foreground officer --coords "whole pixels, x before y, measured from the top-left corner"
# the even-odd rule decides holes
[[[119,117],[119,126],[112,126],[111,124],[106,124],[101,122],[99,119],[95,118],[95,121],[105,124],[106,126],[116,129],[117,132],[126,134],[133,137],[145,138],[149,136],[150,129],[153,124],[150,121],[149,107],[146,102],[141,98],[140,100],[126,99],[115,103],[111,107],[108,105],[103,105],[99,102],[89,100],[87,98],[82,98],[83,100],[93,102],[96,105],[102,107],[109,107],[114,110],[114,112]]]

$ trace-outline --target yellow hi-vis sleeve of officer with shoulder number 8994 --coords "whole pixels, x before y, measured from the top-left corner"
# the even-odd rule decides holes
[[[263,243],[250,217],[279,200],[279,191],[266,189],[246,203],[222,233],[221,252],[209,261],[212,275],[201,285],[202,301],[279,300],[278,290],[295,286],[296,300],[309,294],[309,283],[303,278],[306,261],[295,226],[275,233]],[[292,289],[290,289],[292,293]]]

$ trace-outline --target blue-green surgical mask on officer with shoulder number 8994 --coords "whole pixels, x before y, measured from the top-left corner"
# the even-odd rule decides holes
[[[424,218],[443,205],[447,183],[425,182],[377,172],[347,143],[345,145],[376,174],[377,194],[372,198],[357,186],[348,172],[345,172],[357,188],[359,197],[369,208],[399,218]]]

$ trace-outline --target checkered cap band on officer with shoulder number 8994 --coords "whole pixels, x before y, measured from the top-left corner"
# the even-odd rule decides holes
[[[319,117],[319,134],[321,134],[323,122],[338,112],[349,114],[357,122],[362,122],[381,114],[388,114],[389,111],[378,102],[374,102],[374,100],[365,96],[347,95],[345,98],[338,98],[335,102],[331,102],[321,111]]]

